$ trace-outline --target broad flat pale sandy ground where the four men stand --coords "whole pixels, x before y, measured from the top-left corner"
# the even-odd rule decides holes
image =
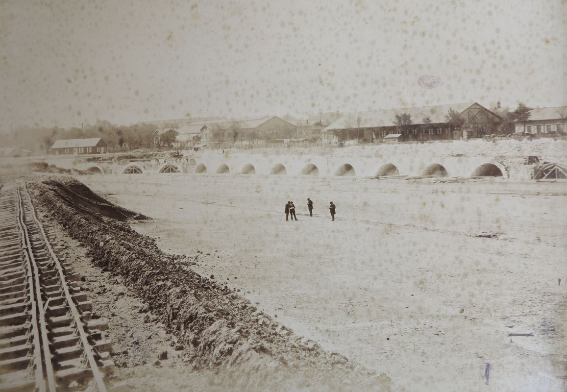
[[[191,174],[79,180],[155,218],[133,227],[163,250],[204,251],[202,275],[397,386],[565,389],[567,183]],[[298,222],[285,222],[287,200],[298,206]],[[509,336],[524,332],[534,336]]]

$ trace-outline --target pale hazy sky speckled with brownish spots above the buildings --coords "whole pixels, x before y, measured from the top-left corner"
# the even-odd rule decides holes
[[[562,0],[0,0],[0,131],[567,105]]]

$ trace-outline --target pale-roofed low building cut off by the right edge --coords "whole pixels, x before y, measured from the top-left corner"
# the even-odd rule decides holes
[[[531,109],[530,119],[515,124],[516,133],[562,134],[567,132],[567,106]]]

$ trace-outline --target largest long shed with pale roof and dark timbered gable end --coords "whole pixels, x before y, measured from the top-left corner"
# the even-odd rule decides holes
[[[460,121],[447,120],[449,112]],[[411,119],[403,127],[396,125],[396,116]],[[409,116],[409,117],[408,117]],[[383,141],[389,134],[400,134],[398,141],[452,140],[483,137],[499,133],[501,118],[476,102],[380,109],[350,113],[323,129],[323,141]]]

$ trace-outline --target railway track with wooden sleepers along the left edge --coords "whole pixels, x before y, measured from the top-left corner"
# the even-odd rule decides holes
[[[106,323],[57,256],[26,185],[0,184],[0,391],[106,391]]]

